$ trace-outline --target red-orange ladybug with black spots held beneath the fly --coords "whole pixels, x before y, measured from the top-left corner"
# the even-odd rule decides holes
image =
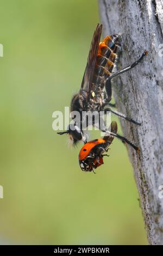
[[[114,137],[120,138],[122,142],[126,142],[131,147],[133,147],[137,153],[139,148],[137,148],[133,143],[129,142],[128,139],[118,135],[117,133],[117,123],[112,121],[109,134],[105,134],[103,138],[94,139],[93,141],[87,142],[83,145],[82,149],[79,152],[79,165],[83,171],[94,172],[94,169],[101,166],[104,156],[109,156],[107,154],[109,146],[112,143]]]

